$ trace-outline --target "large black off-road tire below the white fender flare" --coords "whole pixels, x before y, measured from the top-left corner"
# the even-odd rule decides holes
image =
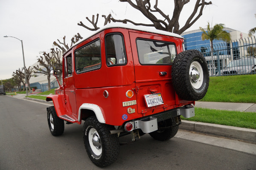
[[[92,130],[99,136],[99,143],[101,144],[101,151],[96,154],[94,146],[90,145],[89,134]],[[86,152],[93,162],[98,167],[106,167],[116,161],[119,154],[119,138],[117,134],[110,134],[110,130],[115,130],[114,126],[100,123],[96,116],[89,117],[84,122],[83,139]]]

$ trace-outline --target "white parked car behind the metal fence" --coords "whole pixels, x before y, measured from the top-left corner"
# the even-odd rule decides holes
[[[221,70],[221,75],[255,74],[256,58],[247,57],[231,61],[227,67]]]

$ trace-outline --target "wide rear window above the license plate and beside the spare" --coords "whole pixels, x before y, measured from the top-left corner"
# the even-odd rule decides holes
[[[172,64],[176,57],[176,47],[171,42],[136,40],[140,64]]]

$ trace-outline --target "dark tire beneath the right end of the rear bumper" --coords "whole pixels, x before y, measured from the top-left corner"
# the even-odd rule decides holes
[[[169,127],[175,125],[175,118],[167,119],[161,122],[158,122],[159,127]],[[174,137],[179,130],[179,125],[171,127],[165,130],[156,130],[154,132],[149,133],[149,135],[158,140],[158,141],[166,141]]]

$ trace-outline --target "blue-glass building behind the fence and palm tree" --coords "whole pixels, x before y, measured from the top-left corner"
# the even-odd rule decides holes
[[[204,30],[207,31],[206,28]],[[211,55],[210,41],[201,39],[203,33],[201,29],[181,34],[184,38],[185,50],[196,49],[204,54],[211,76],[217,75],[218,71],[227,66],[229,62],[247,55],[246,50],[244,48],[241,49],[241,45],[244,45],[241,40],[243,41],[243,36],[248,37],[248,34],[231,28],[224,28],[224,31],[230,33],[231,42],[213,40],[213,56]]]

